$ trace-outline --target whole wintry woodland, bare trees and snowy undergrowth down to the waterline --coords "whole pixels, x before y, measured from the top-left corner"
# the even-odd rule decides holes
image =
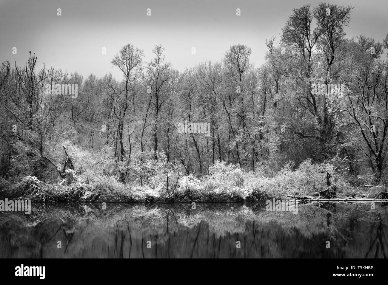
[[[279,38],[174,69],[163,45],[124,45],[122,78],[0,68],[0,196],[241,202],[386,197],[388,34],[346,37],[353,7],[294,9]],[[12,55],[11,55],[12,56]]]

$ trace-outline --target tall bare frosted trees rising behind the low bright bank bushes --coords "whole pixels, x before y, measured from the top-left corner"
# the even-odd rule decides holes
[[[335,157],[344,175],[386,183],[388,35],[346,38],[352,9],[294,9],[279,40],[265,41],[259,67],[244,44],[180,72],[162,45],[145,61],[129,43],[111,62],[120,80],[38,69],[31,52],[24,66],[5,61],[0,173],[54,179],[71,168],[142,183],[161,156],[199,176],[217,161],[272,175],[286,162]],[[78,94],[47,92],[52,83],[77,85]],[[314,92],[318,84],[343,88]],[[191,123],[209,124],[208,135]]]

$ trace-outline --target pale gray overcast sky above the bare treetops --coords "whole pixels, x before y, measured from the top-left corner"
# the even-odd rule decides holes
[[[25,64],[28,50],[38,57],[38,67],[78,71],[84,78],[121,73],[110,63],[126,43],[144,50],[165,47],[166,60],[183,71],[206,59],[220,60],[230,45],[251,47],[251,61],[264,62],[265,39],[281,34],[293,8],[312,0],[0,0],[0,61]],[[347,36],[366,35],[381,41],[388,33],[387,0],[336,0],[352,5]],[[57,16],[57,9],[62,16]],[[147,8],[151,16],[146,16]],[[241,16],[236,16],[236,9]],[[17,48],[17,55],[12,48]],[[102,47],[107,54],[102,55]],[[196,48],[196,55],[191,48]]]

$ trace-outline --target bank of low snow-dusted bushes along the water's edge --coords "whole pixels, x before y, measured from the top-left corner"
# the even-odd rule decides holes
[[[20,176],[14,180],[0,180],[0,199],[149,204],[265,202],[272,199],[289,200],[290,197],[303,195],[323,198],[387,198],[384,187],[351,185],[335,171],[329,168],[322,170],[322,165],[310,162],[294,170],[284,168],[274,177],[247,173],[227,164],[217,164],[210,170],[208,175],[201,178],[192,174],[174,176],[171,173],[165,181],[162,176],[154,176],[145,180],[147,184],[143,185],[121,183],[113,176],[86,176],[70,170],[67,171],[66,179],[57,182]]]

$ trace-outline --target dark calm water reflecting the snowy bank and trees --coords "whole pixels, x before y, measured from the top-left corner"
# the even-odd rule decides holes
[[[0,212],[1,258],[385,258],[388,207],[265,203],[33,205]],[[58,248],[58,242],[62,247]],[[330,248],[326,248],[327,241]],[[240,248],[237,245],[240,244]],[[148,245],[148,246],[147,246]],[[151,248],[149,248],[151,247]]]

